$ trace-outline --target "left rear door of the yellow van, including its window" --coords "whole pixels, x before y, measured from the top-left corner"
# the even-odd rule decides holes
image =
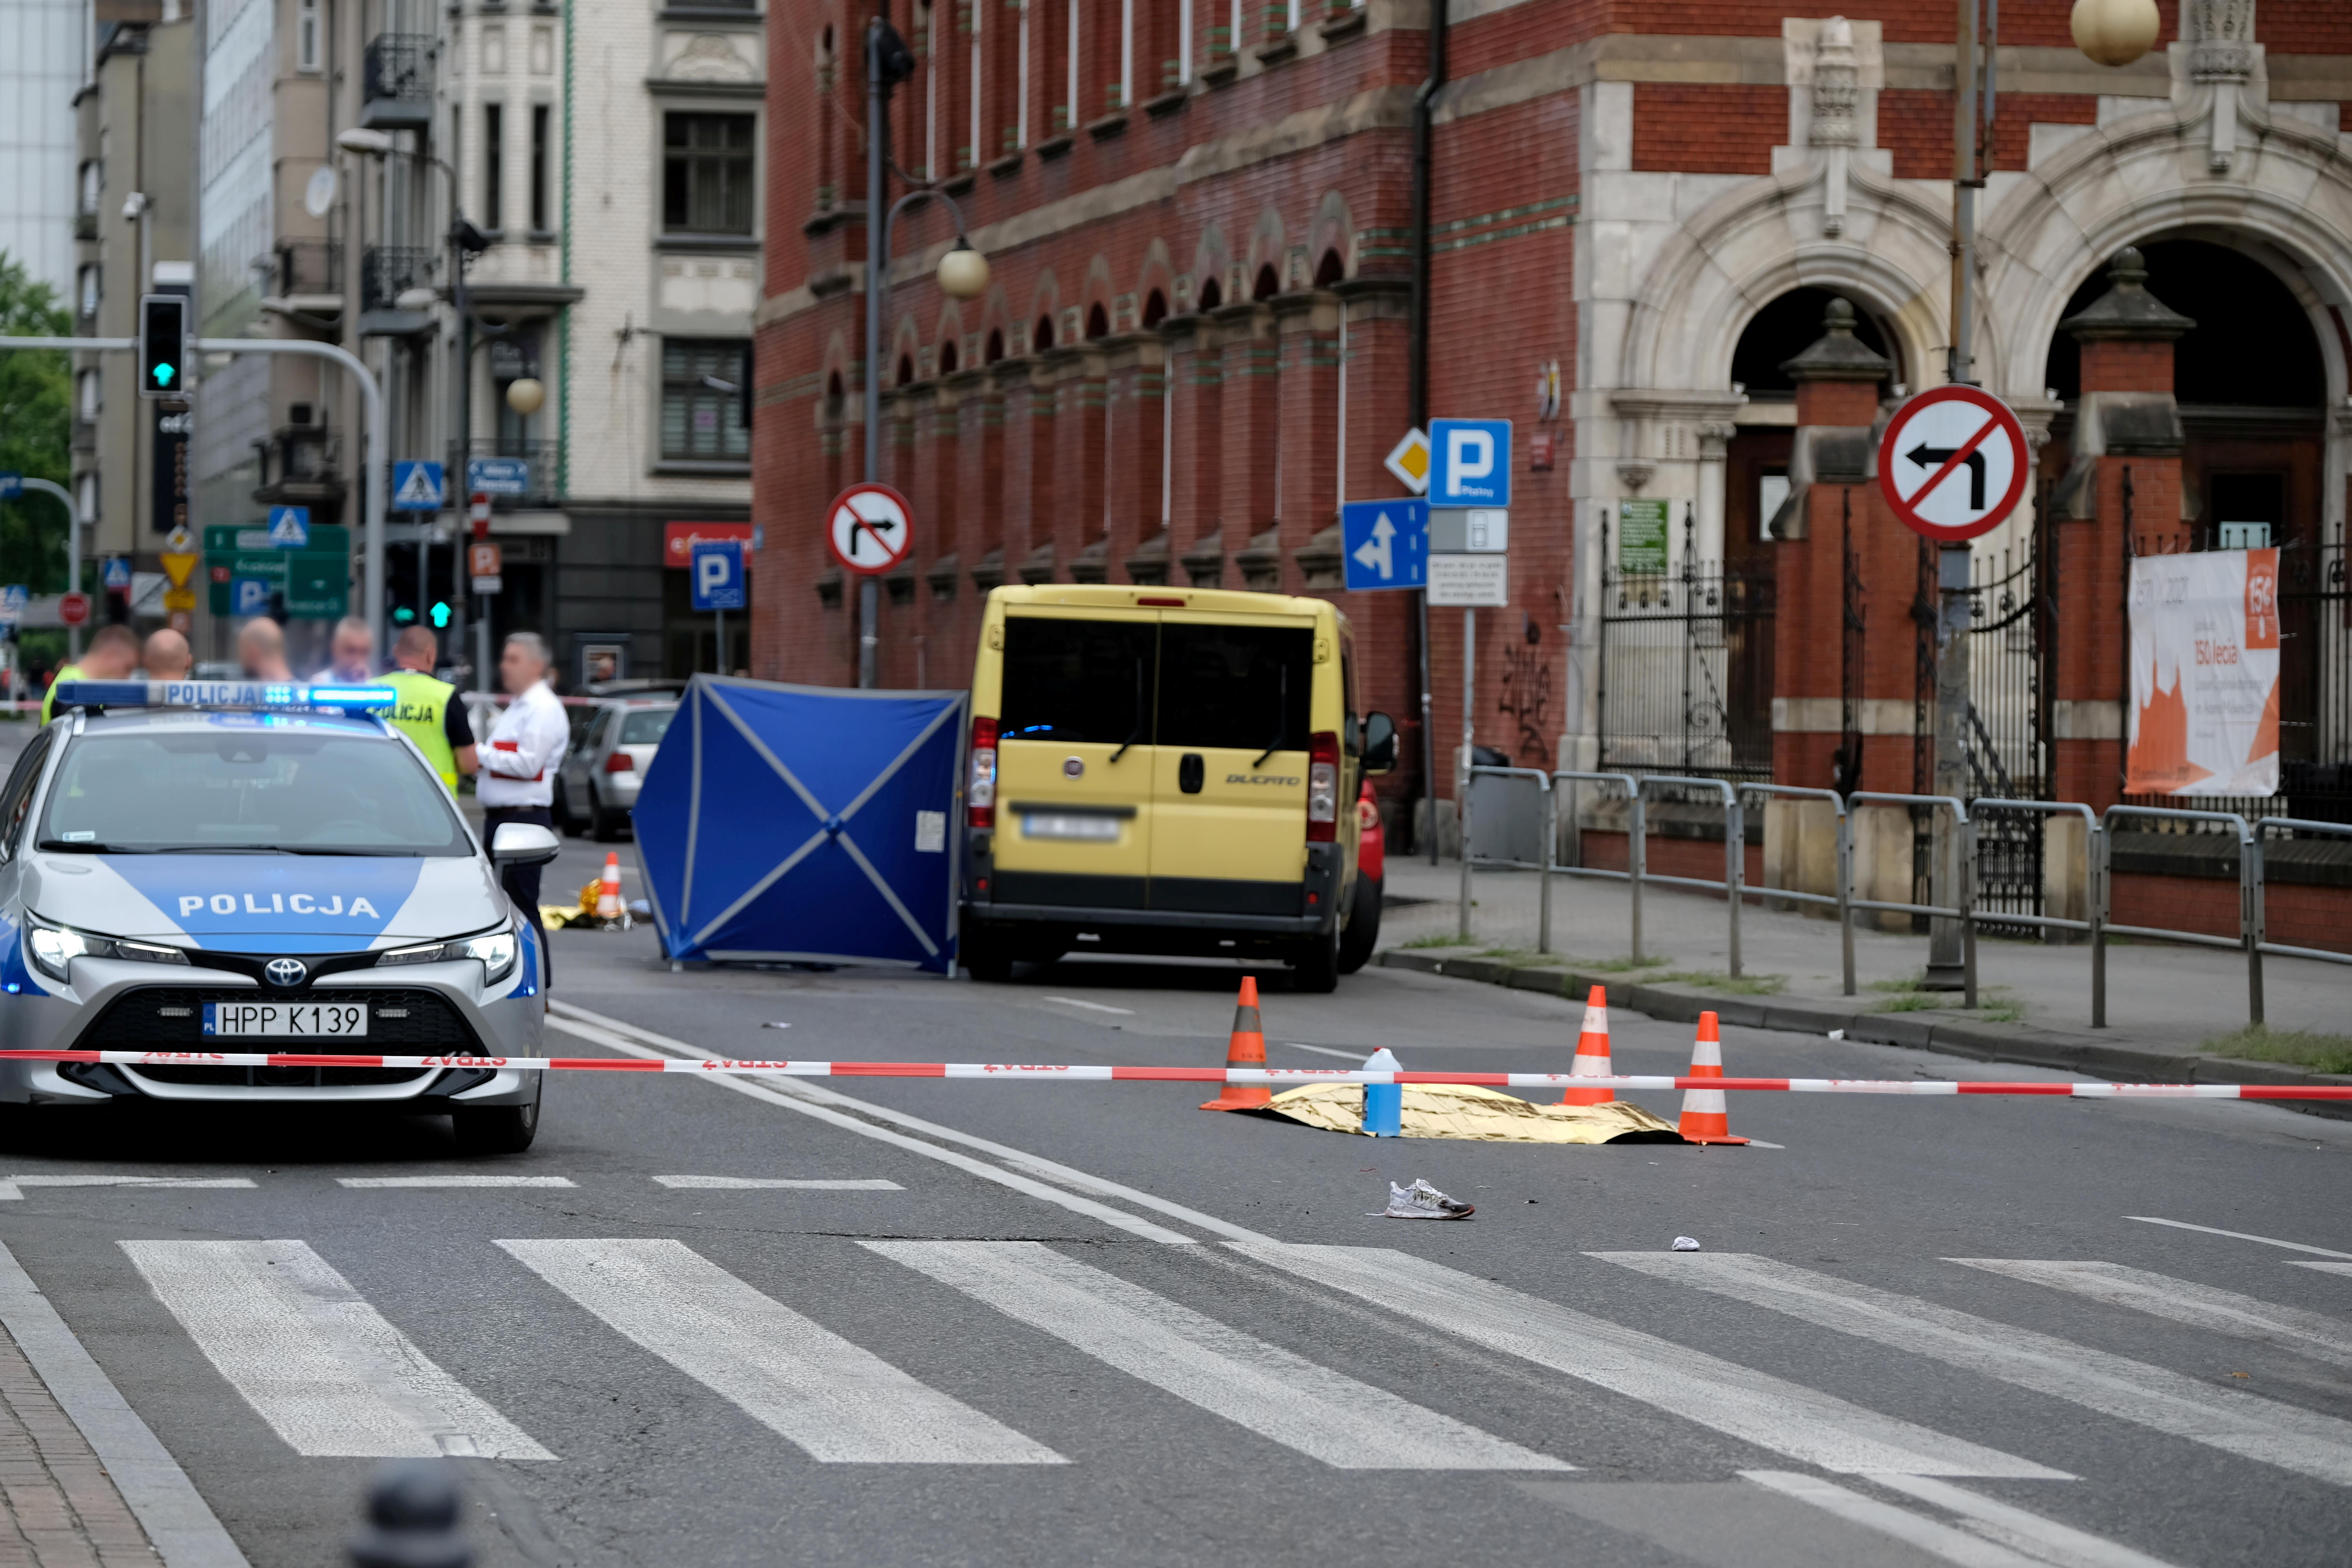
[[[1155,611],[1004,616],[995,896],[1148,907]]]

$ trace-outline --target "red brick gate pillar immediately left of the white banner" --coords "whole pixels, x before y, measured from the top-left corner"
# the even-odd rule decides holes
[[[2173,341],[2194,327],[2147,292],[2140,252],[2107,266],[2110,289],[2058,322],[2082,343],[2072,463],[2051,498],[2058,550],[2053,783],[2058,799],[2105,811],[2124,790],[2124,536],[2180,527],[2180,407]]]

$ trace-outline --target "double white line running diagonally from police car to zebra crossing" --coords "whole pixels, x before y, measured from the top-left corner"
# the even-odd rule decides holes
[[[619,1018],[604,1018],[602,1013],[590,1013],[588,1009],[574,1006],[574,1004],[562,1001],[557,997],[548,999],[548,1009],[550,1009],[548,1023],[553,1027],[560,1027],[560,1030],[564,1030],[569,1034],[579,1034],[581,1039],[593,1039],[593,1041],[597,1041],[597,1044],[602,1044],[602,1046],[607,1046],[612,1051],[621,1051],[623,1056],[637,1056],[637,1058],[647,1058],[647,1056],[687,1056],[687,1058],[701,1058],[701,1060],[717,1058],[717,1051],[703,1051],[701,1046],[689,1046],[682,1039],[670,1039],[668,1034],[654,1034],[652,1030],[640,1030],[637,1025],[621,1023]],[[560,1018],[555,1013],[564,1013],[569,1018],[581,1018],[586,1023],[572,1023],[569,1018]],[[590,1027],[590,1025],[595,1025],[595,1027]],[[637,1044],[637,1041],[642,1041],[642,1044]],[[649,1051],[647,1046],[659,1046],[659,1048]],[[1042,1182],[1033,1182],[1028,1178],[1000,1171],[997,1166],[988,1166],[988,1164],[981,1164],[976,1159],[967,1159],[962,1154],[955,1154],[953,1150],[941,1150],[941,1147],[922,1143],[917,1138],[901,1138],[898,1133],[870,1126],[868,1121],[858,1121],[856,1117],[873,1117],[875,1121],[889,1121],[891,1126],[903,1126],[908,1131],[924,1133],[929,1138],[941,1138],[946,1143],[960,1143],[967,1150],[981,1150],[983,1154],[995,1154],[997,1159],[1004,1159],[1009,1164],[1018,1164],[1021,1168],[1030,1171],[1033,1175],[1042,1175],[1049,1182],[1061,1182],[1063,1187],[1077,1187],[1080,1192],[1101,1192],[1103,1197],[1115,1197],[1115,1199],[1122,1199],[1122,1201],[1134,1204],[1138,1208],[1150,1208],[1150,1211],[1164,1213],[1164,1215],[1183,1220],[1185,1225],[1192,1225],[1197,1229],[1207,1229],[1209,1234],[1216,1234],[1216,1237],[1228,1237],[1228,1239],[1235,1239],[1235,1241],[1272,1241],[1272,1237],[1265,1237],[1265,1234],[1254,1232],[1254,1229],[1244,1229],[1242,1225],[1230,1225],[1230,1222],[1218,1220],[1216,1215],[1202,1213],[1197,1208],[1185,1208],[1183,1204],[1171,1204],[1164,1197],[1157,1197],[1157,1194],[1150,1194],[1150,1192],[1141,1192],[1141,1190],[1127,1187],[1122,1182],[1103,1180],[1098,1175],[1087,1175],[1084,1171],[1073,1171],[1070,1166],[1056,1164],[1051,1159],[1040,1159],[1035,1154],[1023,1154],[1021,1150],[1007,1147],[1002,1143],[990,1143],[985,1138],[974,1138],[971,1133],[960,1133],[953,1126],[941,1126],[936,1121],[924,1121],[922,1117],[910,1117],[910,1114],[906,1114],[901,1110],[891,1110],[887,1105],[875,1105],[870,1100],[856,1100],[851,1095],[835,1093],[830,1088],[818,1088],[816,1084],[797,1084],[793,1079],[771,1079],[774,1088],[769,1088],[767,1084],[753,1084],[753,1081],[746,1081],[746,1079],[731,1079],[731,1077],[720,1077],[720,1074],[713,1074],[708,1081],[713,1081],[713,1084],[727,1084],[736,1093],[750,1095],[753,1100],[764,1100],[769,1105],[781,1105],[783,1110],[793,1110],[793,1112],[800,1112],[804,1117],[814,1117],[814,1119],[826,1121],[830,1126],[842,1126],[842,1128],[847,1128],[851,1133],[858,1133],[863,1138],[875,1138],[875,1140],[889,1143],[894,1147],[913,1150],[917,1154],[924,1154],[927,1159],[938,1159],[941,1164],[950,1164],[957,1171],[969,1171],[969,1173],[981,1175],[985,1180],[1014,1187],[1016,1192],[1028,1192],[1030,1197],[1040,1197],[1047,1204],[1061,1204],[1063,1208],[1075,1208],[1077,1213],[1094,1215],[1094,1218],[1103,1220],[1105,1225],[1117,1225],[1120,1229],[1129,1229],[1129,1232],[1134,1232],[1138,1237],[1145,1237],[1150,1241],[1192,1241],[1192,1237],[1178,1234],[1178,1232],[1167,1229],[1162,1225],[1152,1225],[1148,1220],[1138,1220],[1138,1218],[1134,1218],[1129,1213],[1122,1213],[1122,1211],[1103,1206],[1103,1204],[1089,1204],[1087,1199],[1070,1197],[1065,1192],[1056,1192],[1056,1190],[1051,1190],[1051,1187],[1047,1187]],[[856,1117],[844,1117],[844,1114],[830,1110],[835,1105],[856,1112]]]

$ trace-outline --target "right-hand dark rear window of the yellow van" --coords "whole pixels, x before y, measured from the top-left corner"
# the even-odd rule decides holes
[[[1160,745],[1303,752],[1312,693],[1308,628],[1160,628]]]

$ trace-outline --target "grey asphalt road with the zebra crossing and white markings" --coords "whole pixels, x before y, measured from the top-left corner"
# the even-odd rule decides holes
[[[586,1056],[1216,1063],[1237,980],[670,973],[649,931],[557,933],[555,966],[550,1048]],[[1265,1030],[1275,1065],[1557,1070],[1576,1009],[1367,971],[1270,980]],[[1613,1041],[1689,1058],[1628,1013]],[[1783,1147],[1510,1147],[1202,1098],[579,1074],[515,1159],[430,1119],[54,1112],[5,1173],[252,1187],[26,1185],[0,1239],[268,1568],[341,1561],[367,1455],[433,1448],[501,1455],[459,1462],[485,1563],[2352,1556],[2352,1124],[1743,1095]],[[466,1175],[543,1185],[346,1185]],[[1477,1218],[1374,1218],[1414,1175]]]

